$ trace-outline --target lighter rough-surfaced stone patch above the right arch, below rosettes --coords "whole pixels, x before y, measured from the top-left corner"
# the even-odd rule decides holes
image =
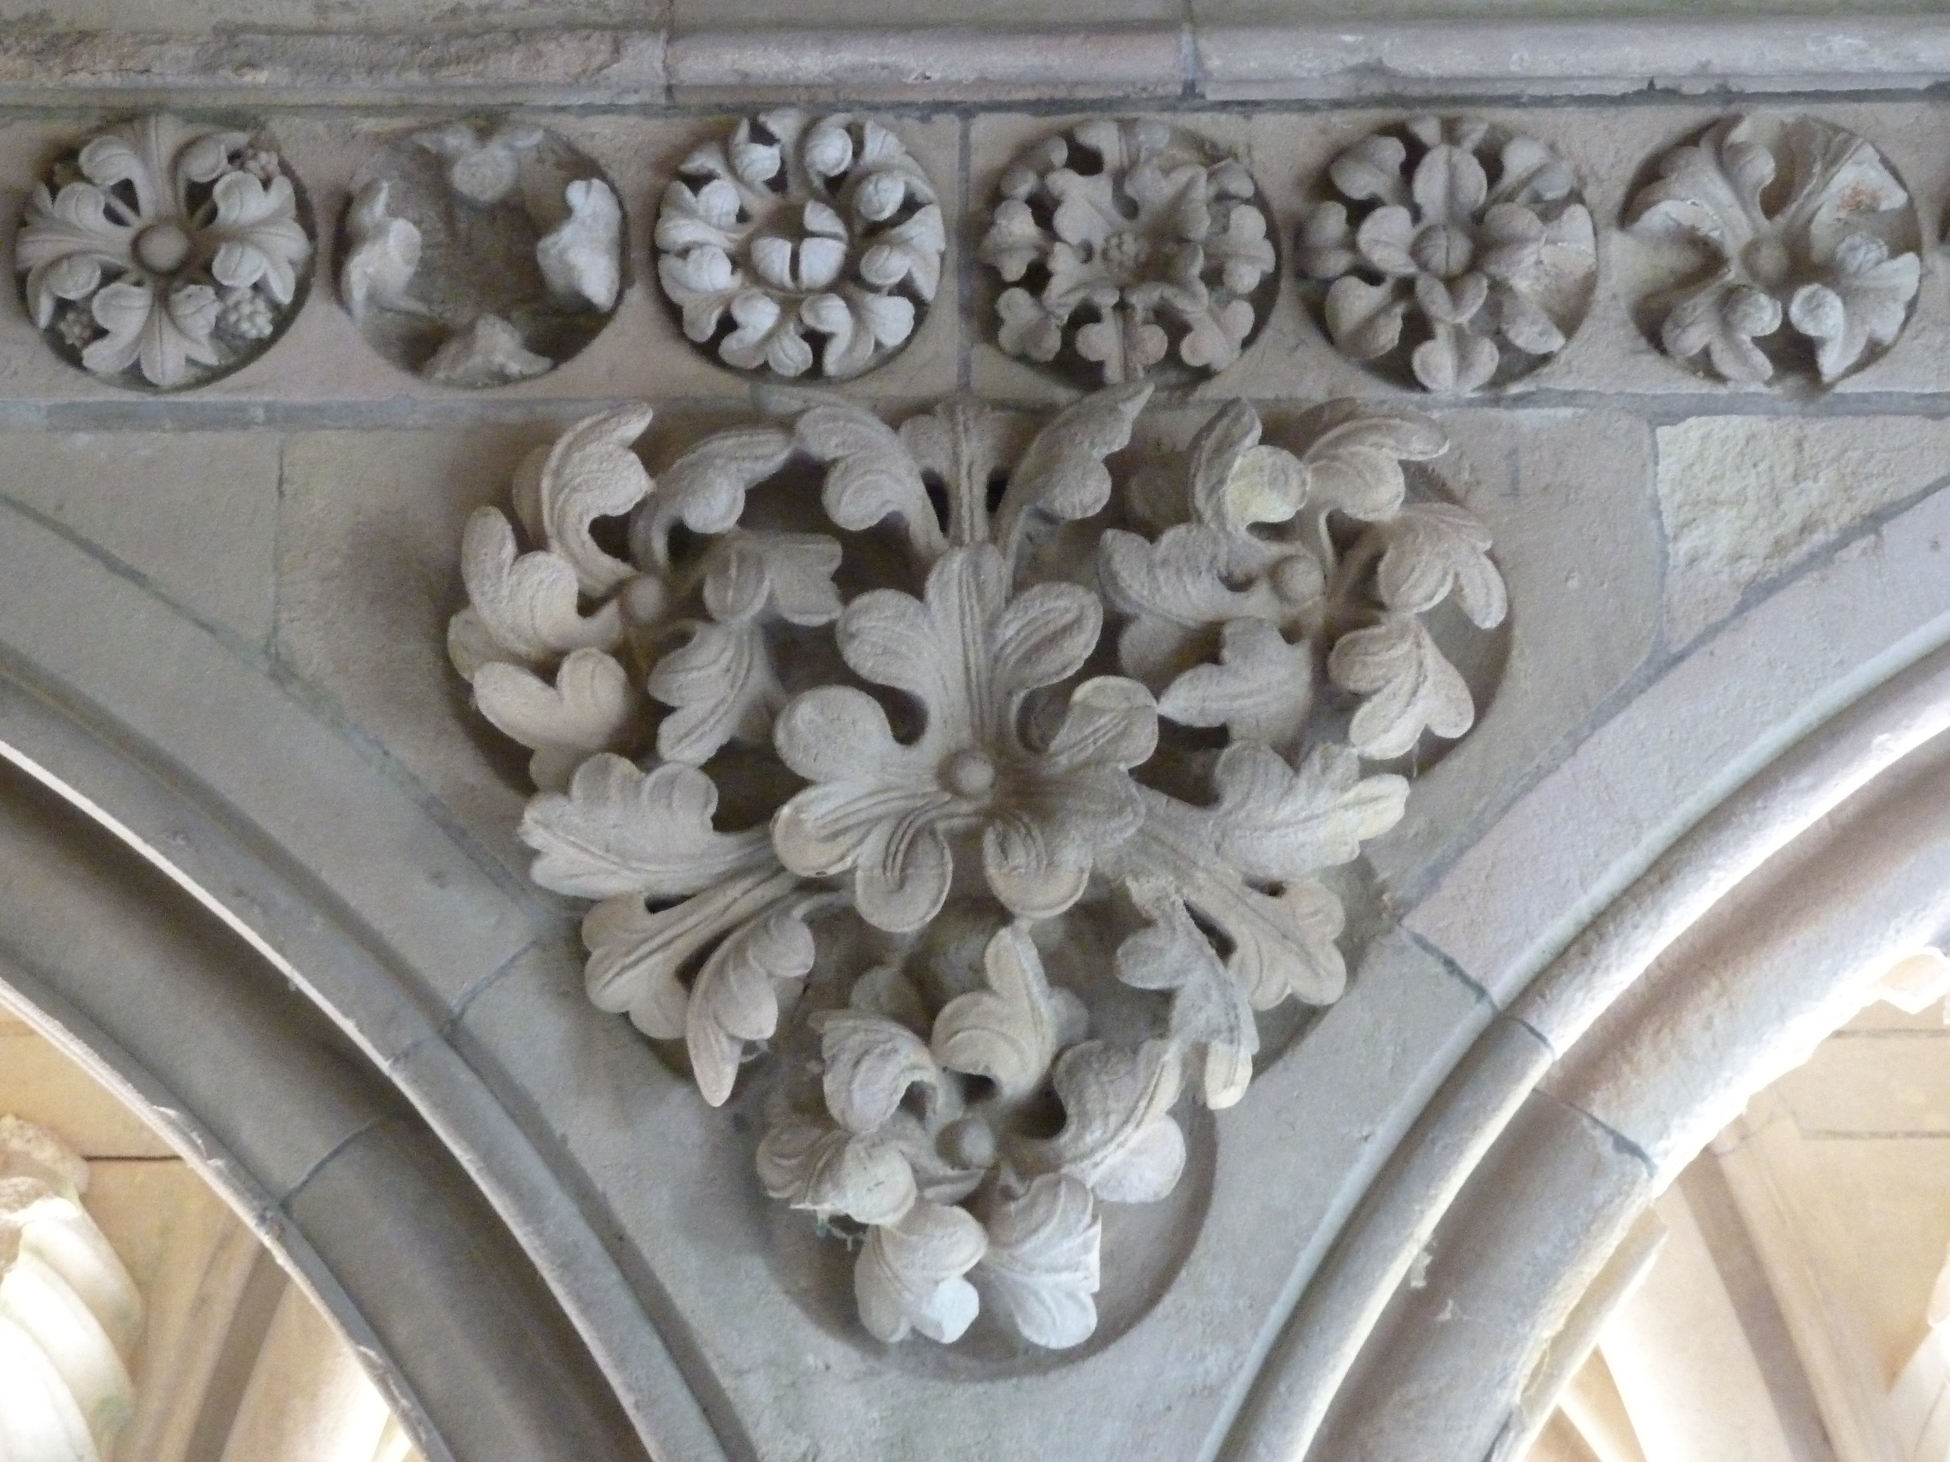
[[[1658,431],[1675,647],[1852,524],[1944,476],[1950,423],[1693,417]]]

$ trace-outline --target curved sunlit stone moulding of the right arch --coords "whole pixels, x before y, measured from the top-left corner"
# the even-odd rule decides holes
[[[1581,1300],[1617,1292],[1615,1257],[1650,1261],[1650,1203],[1950,926],[1946,731],[1936,647],[1718,801],[1521,984],[1363,1195],[1227,1462],[1523,1456],[1568,1376],[1552,1341],[1595,1327]]]

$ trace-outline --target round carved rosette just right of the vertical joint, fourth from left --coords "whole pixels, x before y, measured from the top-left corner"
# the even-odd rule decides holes
[[[1096,119],[1002,173],[981,259],[1008,285],[996,345],[1080,382],[1238,361],[1279,285],[1246,164],[1162,121]]]

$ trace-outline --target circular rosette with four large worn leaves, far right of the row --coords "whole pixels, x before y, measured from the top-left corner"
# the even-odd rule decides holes
[[[1626,209],[1652,246],[1638,320],[1691,370],[1823,386],[1901,335],[1923,263],[1909,189],[1819,117],[1726,117],[1658,160]]]

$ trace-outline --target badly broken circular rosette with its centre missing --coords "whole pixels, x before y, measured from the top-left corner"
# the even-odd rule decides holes
[[[423,127],[353,177],[339,302],[372,349],[439,386],[530,380],[608,324],[622,228],[603,168],[556,133]]]

